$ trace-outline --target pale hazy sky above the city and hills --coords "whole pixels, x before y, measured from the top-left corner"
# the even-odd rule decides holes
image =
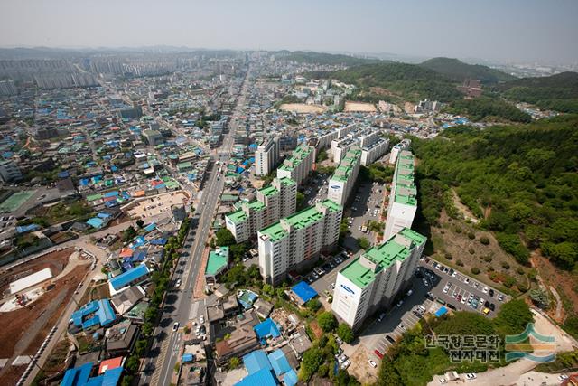
[[[0,46],[578,61],[576,0],[0,0]]]

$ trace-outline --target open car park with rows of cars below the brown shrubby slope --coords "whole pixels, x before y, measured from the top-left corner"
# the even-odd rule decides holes
[[[431,284],[431,294],[440,304],[455,310],[476,311],[494,317],[510,297],[475,278],[424,257],[417,275]]]

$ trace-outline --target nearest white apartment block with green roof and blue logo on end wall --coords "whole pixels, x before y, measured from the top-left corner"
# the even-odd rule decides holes
[[[333,313],[355,329],[368,315],[391,305],[414,274],[425,240],[404,228],[342,268],[335,281]]]

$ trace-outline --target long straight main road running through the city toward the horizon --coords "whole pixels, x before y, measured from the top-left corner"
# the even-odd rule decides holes
[[[211,155],[212,160],[219,160],[221,165],[228,162],[231,153],[233,135],[238,125],[237,118],[245,105],[249,71],[250,69],[247,70],[243,87],[237,99],[237,105],[233,111],[233,119],[228,134],[224,137],[223,143],[217,152]],[[141,376],[141,384],[168,385],[171,383],[174,366],[179,362],[178,353],[182,343],[181,329],[172,331],[172,326],[175,322],[178,322],[180,326],[185,325],[192,317],[198,314],[200,306],[202,306],[201,313],[204,313],[205,302],[194,301],[193,292],[200,275],[202,275],[202,272],[200,272],[202,254],[224,184],[224,178],[221,178],[219,174],[219,167],[214,165],[195,211],[195,215],[200,216],[199,223],[196,229],[193,224],[193,228],[191,228],[185,240],[185,245],[189,245],[192,242],[191,249],[188,254],[183,253],[179,258],[177,270],[173,276],[174,281],[181,279],[182,284],[181,287],[176,288],[176,292],[170,292],[167,295],[161,323],[154,331],[154,344],[151,348],[151,355],[145,359],[142,366],[144,372]],[[184,268],[182,268],[183,266]],[[150,375],[148,369],[152,368],[154,368],[154,372]]]

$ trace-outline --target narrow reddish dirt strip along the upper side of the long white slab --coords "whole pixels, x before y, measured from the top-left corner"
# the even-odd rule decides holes
[[[42,258],[33,259],[8,271],[2,269],[0,274],[0,293],[4,293],[12,281],[31,275],[44,268],[51,268],[52,276],[57,277],[62,272],[62,269],[66,267],[72,252],[74,252],[73,249],[62,249],[42,256]]]

